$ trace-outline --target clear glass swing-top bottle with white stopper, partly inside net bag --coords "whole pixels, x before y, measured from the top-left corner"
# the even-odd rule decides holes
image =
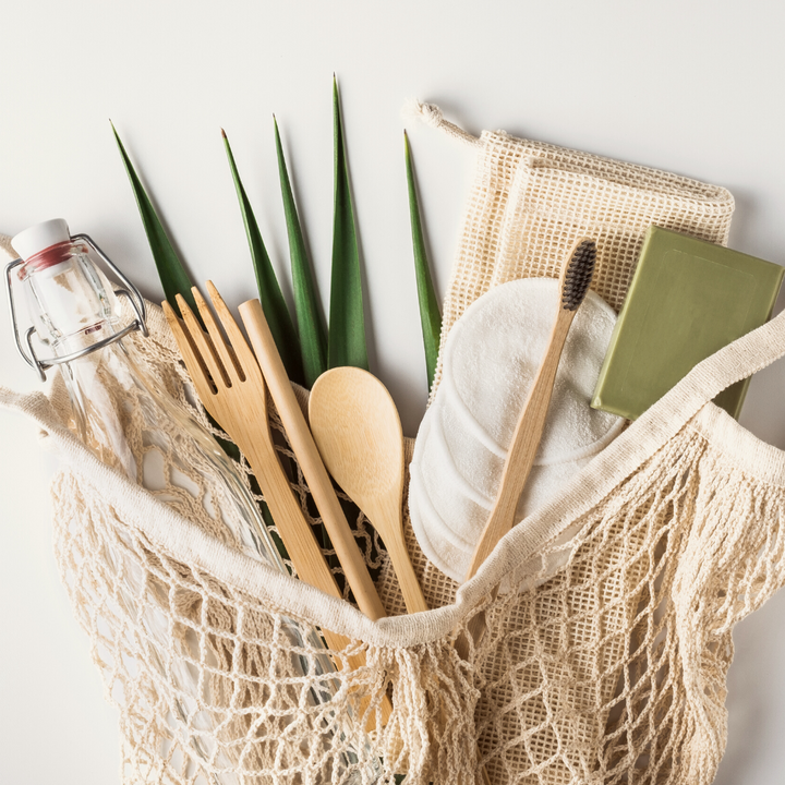
[[[233,461],[146,370],[144,358],[137,357],[132,343],[123,343],[122,338],[134,329],[146,335],[144,300],[133,285],[87,235],[72,238],[61,219],[31,227],[17,234],[12,245],[21,258],[11,263],[7,271],[9,295],[13,305],[11,273],[19,267],[17,279],[33,323],[23,348],[12,307],[20,352],[41,377],[48,367],[57,365],[71,399],[70,425],[80,439],[104,463],[123,472],[130,481],[197,521],[203,529],[287,572]],[[88,255],[90,247],[126,288],[114,291],[107,288],[107,278]],[[122,325],[121,298],[135,311],[136,319],[131,325]],[[47,360],[38,358],[34,335],[51,353]],[[122,532],[117,534],[124,540]],[[125,544],[130,546],[128,541]],[[154,665],[171,680],[178,695],[174,713],[179,726],[181,730],[195,732],[188,732],[188,738],[182,740],[201,758],[213,760],[216,768],[224,770],[214,774],[219,785],[235,785],[239,780],[231,771],[235,761],[226,751],[233,746],[221,745],[216,753],[213,735],[220,724],[221,701],[228,706],[231,688],[225,685],[221,690],[220,679],[216,684],[200,680],[198,668],[193,664],[204,662],[215,668],[218,662],[215,653],[188,625],[172,636],[165,583],[150,580],[119,547],[107,543],[102,556],[122,576],[119,596],[124,611],[136,617],[138,608],[144,608],[141,621],[149,636]],[[292,648],[303,649],[307,641],[318,652],[310,657],[293,656],[291,667],[295,675],[335,673],[316,630],[288,618],[283,619],[283,629]],[[337,679],[319,679],[318,688],[311,690],[310,702],[327,703],[339,688]],[[221,695],[227,689],[229,693]],[[196,712],[200,698],[207,706],[217,706],[217,711]],[[364,752],[370,749],[364,729],[357,725],[350,717],[333,717],[325,723],[326,737],[339,734],[342,740],[352,741],[346,759],[338,761],[339,766],[357,761],[352,749],[362,748]],[[314,733],[317,730],[314,728]],[[365,782],[375,782],[379,776],[379,768],[372,759]],[[354,769],[340,781],[360,783],[362,778]]]

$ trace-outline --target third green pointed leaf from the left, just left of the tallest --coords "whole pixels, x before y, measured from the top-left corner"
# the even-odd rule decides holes
[[[283,148],[278,133],[278,121],[275,118],[274,124],[283,215],[286,216],[287,234],[289,235],[294,314],[298,330],[300,331],[300,350],[302,352],[305,386],[310,389],[313,387],[314,382],[327,370],[327,333],[322,319],[318,294],[305,251],[305,240],[303,239],[302,227],[294,204],[294,195],[289,182],[289,172],[287,171]]]

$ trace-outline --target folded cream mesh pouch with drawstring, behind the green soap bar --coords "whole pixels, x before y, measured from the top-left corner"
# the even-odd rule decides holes
[[[723,188],[504,131],[474,138],[445,121],[437,107],[418,109],[426,122],[478,150],[444,303],[442,346],[466,309],[491,287],[517,278],[557,278],[581,237],[597,243],[591,288],[616,311],[650,225],[727,242],[734,200]],[[439,362],[432,397],[440,378]]]

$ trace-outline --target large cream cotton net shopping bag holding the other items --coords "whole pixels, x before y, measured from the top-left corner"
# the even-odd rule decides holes
[[[504,144],[515,153],[524,143]],[[509,202],[506,183],[495,193]],[[715,205],[689,221],[722,240],[729,197],[717,194],[724,218]],[[466,226],[485,231],[478,210],[472,197]],[[467,247],[448,303],[461,291]],[[496,270],[499,247],[471,256],[487,267],[482,286],[507,275]],[[482,286],[464,283],[468,302]],[[155,309],[149,327],[149,339],[129,340],[188,404],[188,379]],[[414,785],[483,776],[493,785],[710,783],[726,739],[732,629],[785,580],[785,452],[709,401],[783,353],[785,315],[701,363],[460,589],[427,564],[407,521],[435,609],[402,615],[381,558],[390,615],[375,623],[98,462],[68,428],[57,385],[48,395],[1,389],[0,402],[32,418],[61,458],[56,556],[118,709],[123,782],[391,783],[406,774]],[[293,487],[311,509],[299,474]],[[362,519],[358,539],[373,558]],[[485,632],[474,640],[479,614]],[[171,640],[162,657],[150,616]],[[365,653],[364,667],[328,675],[328,702],[312,699],[324,676],[304,665],[318,653],[292,642],[287,619],[352,641],[334,652],[338,663]],[[197,691],[183,688],[182,668]],[[383,725],[387,693],[392,713]]]

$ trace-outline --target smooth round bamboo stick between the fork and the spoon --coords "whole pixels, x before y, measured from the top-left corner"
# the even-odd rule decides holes
[[[240,305],[239,310],[292,450],[322,514],[322,521],[327,529],[349,585],[354,592],[358,605],[371,619],[382,618],[387,615],[387,612],[371,579],[336,496],[333,482],[316,449],[311,430],[294,397],[262,305],[258,300],[249,300]]]

